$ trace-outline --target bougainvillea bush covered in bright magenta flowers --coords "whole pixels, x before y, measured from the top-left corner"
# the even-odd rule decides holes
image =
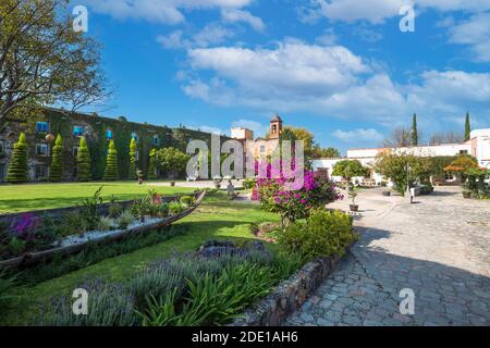
[[[304,171],[303,186],[294,189],[290,189],[294,178],[286,178],[283,175],[273,178],[272,171],[273,165],[269,163],[267,177],[257,179],[253,199],[259,200],[264,210],[281,214],[283,228],[291,222],[309,216],[313,209],[323,208],[328,203],[343,199],[332,182],[315,176],[311,171]],[[298,174],[293,167],[294,172]]]

